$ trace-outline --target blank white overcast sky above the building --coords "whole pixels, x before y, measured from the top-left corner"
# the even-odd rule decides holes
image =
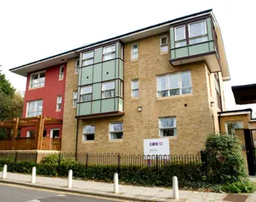
[[[224,82],[226,107],[256,109],[236,106],[231,90],[231,86],[256,82],[254,5],[253,0],[0,0],[0,65],[12,85],[24,91],[26,78],[8,69],[212,8],[232,78]]]

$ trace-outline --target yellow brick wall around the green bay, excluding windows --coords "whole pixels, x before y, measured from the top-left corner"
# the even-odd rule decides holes
[[[139,44],[138,60],[130,60],[132,44]],[[169,53],[160,54],[160,36],[151,36],[124,45],[124,116],[79,120],[78,152],[143,154],[143,139],[159,138],[158,118],[177,117],[177,137],[169,138],[171,154],[195,154],[204,148],[207,134],[218,128],[216,110],[211,109],[207,87],[207,65],[197,62],[173,67]],[[75,110],[71,94],[77,78],[70,74],[68,61],[62,150],[75,152]],[[156,75],[190,69],[193,94],[157,98]],[[131,98],[131,80],[139,79],[139,98]],[[74,80],[74,81],[71,81]],[[69,82],[69,83],[68,83]],[[214,87],[214,82],[212,82]],[[213,91],[213,90],[212,90]],[[67,100],[70,99],[70,100]],[[187,107],[185,107],[185,104]],[[137,107],[143,107],[138,112]],[[67,118],[67,120],[65,120]],[[123,122],[123,140],[109,141],[109,123]],[[83,125],[95,124],[95,141],[83,141]]]

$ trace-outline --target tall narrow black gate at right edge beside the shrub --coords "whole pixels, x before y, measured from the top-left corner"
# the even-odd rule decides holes
[[[256,175],[253,133],[250,129],[245,129],[244,132],[249,175]]]

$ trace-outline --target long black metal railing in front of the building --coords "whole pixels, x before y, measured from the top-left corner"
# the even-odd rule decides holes
[[[202,158],[201,158],[202,156]],[[160,169],[161,166],[170,164],[198,165],[204,162],[201,154],[183,155],[140,155],[140,154],[88,154],[88,153],[28,153],[28,152],[0,152],[0,160],[9,162],[35,162],[49,164],[66,164],[72,166],[75,163],[83,166],[152,166]]]

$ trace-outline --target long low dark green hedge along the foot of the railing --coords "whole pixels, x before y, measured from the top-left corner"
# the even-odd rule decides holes
[[[0,160],[0,166],[8,165],[8,171],[31,174],[32,166],[36,166],[37,175],[66,177],[68,170],[73,170],[75,178],[87,180],[99,180],[113,182],[113,173],[117,172],[117,166],[84,166],[83,164],[62,162],[60,166],[53,163],[34,162],[9,162]],[[172,186],[173,175],[179,179],[180,187],[193,187],[193,182],[200,182],[203,178],[202,164],[194,163],[170,163],[160,166],[158,170],[153,166],[121,166],[118,172],[121,182],[147,185],[147,186]]]

